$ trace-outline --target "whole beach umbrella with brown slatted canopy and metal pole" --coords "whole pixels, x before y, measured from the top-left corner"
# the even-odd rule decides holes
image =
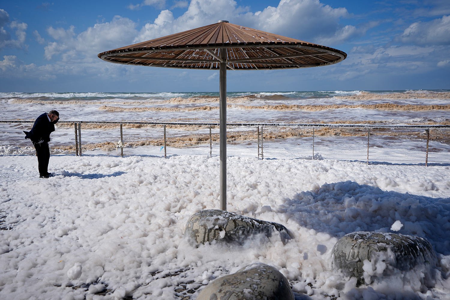
[[[274,70],[339,63],[345,52],[228,21],[100,53],[136,66],[219,70],[220,209],[226,210],[226,70]]]

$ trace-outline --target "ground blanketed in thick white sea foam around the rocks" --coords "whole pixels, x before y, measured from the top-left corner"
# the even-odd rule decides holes
[[[194,248],[184,227],[219,208],[218,157],[55,155],[49,179],[36,157],[0,165],[0,299],[195,299],[253,262],[279,269],[296,299],[450,299],[450,166],[229,157],[228,210],[283,224],[293,239]],[[331,251],[361,230],[425,237],[436,278],[356,287],[332,271]]]

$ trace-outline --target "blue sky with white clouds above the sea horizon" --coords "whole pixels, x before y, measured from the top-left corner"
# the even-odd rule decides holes
[[[450,89],[448,0],[3,0],[0,92],[218,91],[218,71],[97,57],[217,20],[348,55],[318,68],[229,71],[229,91]]]

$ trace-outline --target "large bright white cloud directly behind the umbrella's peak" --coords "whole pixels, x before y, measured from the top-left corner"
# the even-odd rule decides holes
[[[319,0],[281,0],[277,7],[268,6],[256,13],[249,12],[248,7],[238,6],[234,0],[191,0],[187,11],[178,18],[173,19],[169,10],[162,11],[153,23],[145,24],[135,42],[201,27],[218,20],[228,20],[310,42],[319,39],[341,42],[364,34],[368,28],[341,26],[340,18],[347,16],[347,9],[334,9]],[[167,22],[162,23],[161,19]]]

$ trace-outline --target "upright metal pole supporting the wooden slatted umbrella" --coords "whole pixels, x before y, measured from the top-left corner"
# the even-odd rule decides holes
[[[220,51],[220,209],[226,210],[226,49]]]

